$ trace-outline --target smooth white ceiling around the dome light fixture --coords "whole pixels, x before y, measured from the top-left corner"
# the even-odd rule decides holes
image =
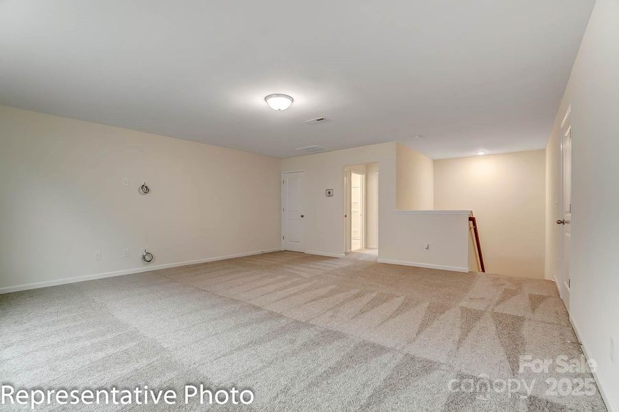
[[[539,149],[593,3],[2,0],[0,104],[275,157]]]

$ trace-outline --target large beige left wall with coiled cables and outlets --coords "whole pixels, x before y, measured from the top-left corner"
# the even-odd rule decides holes
[[[142,268],[143,247],[151,268],[279,249],[279,168],[279,159],[0,106],[0,288]]]

